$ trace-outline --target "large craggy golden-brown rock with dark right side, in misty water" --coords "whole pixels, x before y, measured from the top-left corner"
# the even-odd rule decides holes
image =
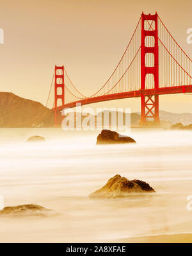
[[[141,192],[156,191],[142,180],[127,180],[125,177],[115,175],[108,180],[104,187],[90,194],[90,198],[118,198]]]

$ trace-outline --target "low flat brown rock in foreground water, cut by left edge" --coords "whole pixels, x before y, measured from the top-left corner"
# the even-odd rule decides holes
[[[0,210],[0,217],[1,216],[51,216],[56,214],[54,210],[46,209],[40,205],[17,205],[11,207],[4,207],[3,210]]]

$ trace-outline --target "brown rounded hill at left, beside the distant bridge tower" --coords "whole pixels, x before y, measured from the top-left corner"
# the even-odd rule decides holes
[[[0,127],[52,126],[54,115],[37,101],[20,98],[12,92],[0,92]]]

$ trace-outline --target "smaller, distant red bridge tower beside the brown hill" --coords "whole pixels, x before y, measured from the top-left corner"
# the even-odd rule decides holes
[[[59,92],[61,88],[61,92]],[[62,106],[65,103],[65,83],[64,83],[64,66],[54,67],[54,126],[57,125],[57,111],[58,99],[61,99]]]

